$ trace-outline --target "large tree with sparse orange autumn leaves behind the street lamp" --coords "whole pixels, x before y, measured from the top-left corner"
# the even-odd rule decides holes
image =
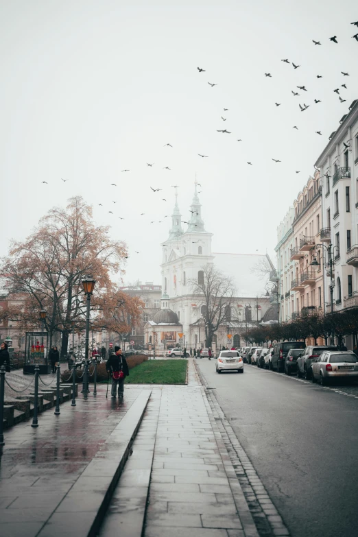
[[[82,279],[97,281],[91,300],[91,325],[128,332],[141,315],[141,301],[124,296],[110,276],[123,274],[126,244],[108,237],[109,227],[93,222],[92,207],[82,197],[66,208],[52,208],[25,241],[14,241],[1,272],[10,281],[10,295],[23,296],[22,307],[10,314],[24,329],[38,326],[40,309],[47,309],[45,326],[62,335],[61,356],[67,354],[69,333],[84,329],[86,296]]]

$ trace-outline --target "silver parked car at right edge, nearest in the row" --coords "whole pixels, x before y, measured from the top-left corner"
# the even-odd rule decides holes
[[[352,350],[324,350],[312,363],[312,382],[324,386],[331,379],[357,379],[358,358]]]

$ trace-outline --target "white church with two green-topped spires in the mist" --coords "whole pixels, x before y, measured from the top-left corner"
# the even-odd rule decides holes
[[[189,348],[205,346],[203,312],[195,302],[198,296],[191,292],[191,281],[203,278],[204,265],[214,263],[221,272],[231,276],[237,297],[232,301],[232,313],[215,334],[213,350],[222,345],[243,346],[248,329],[259,322],[277,320],[276,305],[270,303],[263,281],[253,272],[263,256],[212,252],[213,234],[204,228],[196,180],[190,213],[190,220],[185,223],[187,229],[184,230],[176,191],[169,237],[161,244],[161,307],[153,320],[145,324],[145,344],[155,343],[159,349],[181,344],[188,351]]]

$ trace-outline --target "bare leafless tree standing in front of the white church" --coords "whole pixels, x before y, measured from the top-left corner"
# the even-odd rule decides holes
[[[236,289],[230,276],[208,263],[198,273],[197,281],[189,281],[196,309],[202,313],[206,346],[211,347],[213,335],[221,324],[231,320],[231,305]]]

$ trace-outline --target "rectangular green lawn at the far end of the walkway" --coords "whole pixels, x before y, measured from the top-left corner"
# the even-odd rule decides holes
[[[126,384],[184,384],[188,361],[148,360],[130,370]]]

